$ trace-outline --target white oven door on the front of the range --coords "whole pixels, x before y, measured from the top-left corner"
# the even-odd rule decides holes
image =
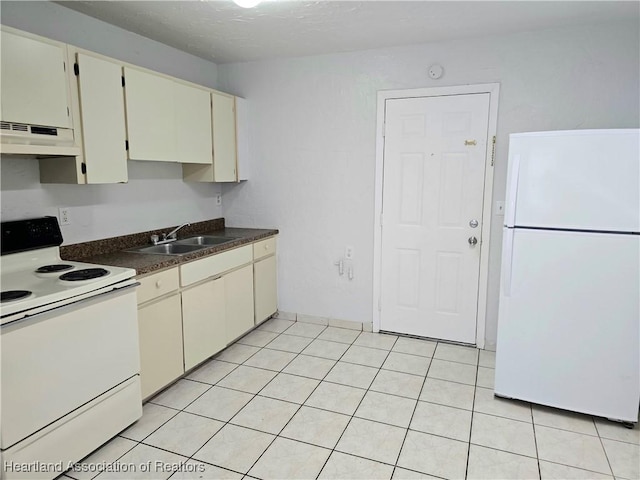
[[[136,285],[2,326],[2,450],[140,372]]]

